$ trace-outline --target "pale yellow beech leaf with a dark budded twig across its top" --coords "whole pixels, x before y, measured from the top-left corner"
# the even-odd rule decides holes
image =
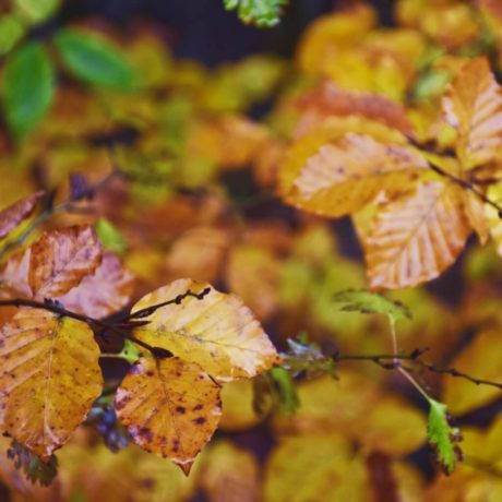
[[[254,376],[271,368],[278,355],[251,310],[237,296],[216,291],[207,283],[175,280],[144,296],[132,312],[206,288],[210,292],[202,299],[188,297],[179,304],[156,309],[144,318],[147,325],[134,330],[135,336],[196,362],[223,381]]]

